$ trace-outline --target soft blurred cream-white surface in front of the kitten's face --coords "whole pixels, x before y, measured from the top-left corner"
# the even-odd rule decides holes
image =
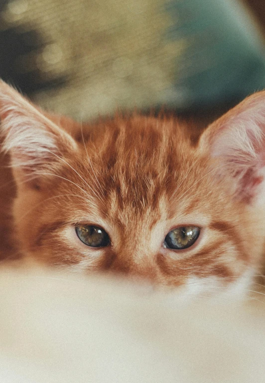
[[[264,383],[265,306],[149,286],[0,274],[1,383]]]

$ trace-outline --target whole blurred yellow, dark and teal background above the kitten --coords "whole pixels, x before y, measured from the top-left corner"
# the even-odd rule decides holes
[[[265,88],[264,32],[264,0],[0,0],[0,76],[77,120],[211,120]]]

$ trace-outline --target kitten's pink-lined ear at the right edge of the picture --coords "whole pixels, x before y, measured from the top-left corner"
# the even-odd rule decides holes
[[[251,202],[265,178],[265,91],[245,99],[205,130],[202,153],[217,161],[217,173],[236,197]]]

